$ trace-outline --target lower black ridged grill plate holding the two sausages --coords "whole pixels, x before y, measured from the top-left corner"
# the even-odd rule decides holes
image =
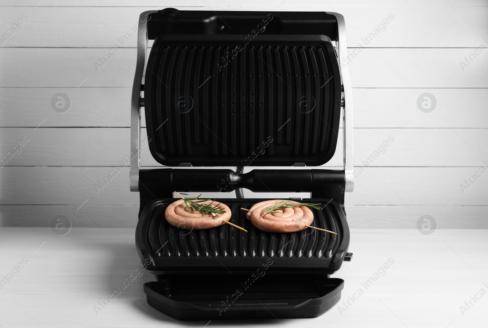
[[[268,233],[253,226],[242,208],[250,208],[263,199],[216,199],[227,204],[232,217],[229,224],[188,230],[170,225],[164,217],[166,206],[177,199],[160,199],[144,208],[136,230],[136,241],[144,258],[152,260],[149,270],[247,271],[273,260],[270,271],[328,272],[340,267],[349,244],[346,216],[336,202],[304,199],[320,203],[314,210],[313,226],[337,232],[333,235],[307,228],[295,233]]]

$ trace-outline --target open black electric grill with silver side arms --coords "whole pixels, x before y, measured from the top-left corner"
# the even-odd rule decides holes
[[[141,197],[136,247],[156,276],[144,284],[149,305],[194,320],[315,317],[338,302],[344,281],[330,274],[351,260],[344,193],[353,190],[352,98],[341,55],[346,30],[337,13],[141,14],[130,189]],[[152,156],[173,168],[140,169],[142,107]],[[335,152],[341,113],[344,169],[317,167]],[[236,170],[176,168],[189,166]],[[294,168],[243,173],[244,166]],[[244,198],[243,188],[310,192],[303,201],[323,207],[312,209],[312,225],[338,235],[260,231],[240,208],[264,199]],[[216,201],[248,232],[170,225],[164,210],[173,191],[236,191]]]

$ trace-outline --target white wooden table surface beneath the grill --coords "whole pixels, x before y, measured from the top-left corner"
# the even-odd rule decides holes
[[[352,262],[333,275],[345,280],[341,301],[318,318],[180,322],[147,305],[142,284],[155,279],[145,271],[94,310],[140,263],[134,229],[1,228],[0,279],[28,263],[0,290],[0,327],[487,327],[488,294],[477,293],[488,292],[488,230],[353,229],[349,251]],[[349,296],[357,300],[344,306]],[[479,300],[468,308],[470,297]]]

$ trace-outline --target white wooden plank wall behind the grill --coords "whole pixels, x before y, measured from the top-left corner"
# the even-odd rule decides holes
[[[0,46],[1,157],[29,139],[0,168],[1,226],[49,226],[56,215],[74,227],[135,226],[139,194],[129,192],[129,169],[98,194],[94,183],[129,153],[136,37],[99,71],[93,63],[142,11],[208,6],[346,17],[348,50],[364,47],[348,64],[355,166],[395,139],[346,194],[351,227],[415,228],[428,214],[440,228],[488,228],[488,173],[460,188],[488,166],[488,51],[460,65],[488,47],[486,0],[0,0],[0,33],[28,16]],[[386,30],[365,45],[388,14]],[[59,92],[72,101],[65,113],[51,108]],[[430,113],[417,108],[426,92],[437,100]],[[341,162],[338,147],[325,166]],[[159,166],[147,149],[142,166]]]

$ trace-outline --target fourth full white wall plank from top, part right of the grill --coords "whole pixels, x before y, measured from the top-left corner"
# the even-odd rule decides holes
[[[488,138],[487,129],[450,129],[448,122],[446,127],[446,129],[355,129],[354,165],[358,167],[486,165],[483,161],[488,160],[488,146],[485,146],[484,142]],[[476,141],[478,138],[483,141]],[[390,143],[391,140],[394,141]],[[384,147],[388,144],[389,146]]]

